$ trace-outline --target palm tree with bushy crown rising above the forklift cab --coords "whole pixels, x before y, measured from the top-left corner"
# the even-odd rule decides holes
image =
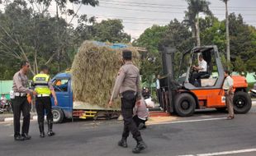
[[[209,9],[210,2],[206,0],[186,0],[188,7],[185,11],[185,21],[192,28],[192,37],[197,37],[197,46],[201,45],[200,42],[200,29],[199,29],[199,13],[203,12],[206,15],[211,16],[211,11]]]

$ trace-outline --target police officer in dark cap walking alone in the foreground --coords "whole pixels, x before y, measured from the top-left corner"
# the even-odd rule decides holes
[[[122,52],[124,65],[121,67],[116,77],[114,89],[111,94],[111,99],[108,106],[111,107],[113,100],[117,98],[121,93],[121,115],[124,117],[124,130],[121,140],[118,145],[121,147],[127,147],[127,137],[129,133],[133,135],[133,138],[137,141],[135,149],[132,150],[134,154],[139,154],[146,148],[145,142],[142,140],[140,131],[132,118],[133,108],[135,103],[140,101],[140,71],[131,62],[130,50],[123,50]]]

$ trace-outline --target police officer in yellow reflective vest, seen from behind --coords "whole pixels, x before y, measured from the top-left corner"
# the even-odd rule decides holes
[[[58,104],[55,89],[50,81],[49,68],[45,65],[40,67],[40,74],[37,74],[33,78],[33,84],[36,90],[36,112],[37,112],[37,122],[39,124],[40,138],[45,137],[44,131],[44,120],[45,112],[48,122],[48,132],[47,135],[55,135],[53,129],[53,114],[51,112],[51,100],[50,95],[55,99],[55,106]]]

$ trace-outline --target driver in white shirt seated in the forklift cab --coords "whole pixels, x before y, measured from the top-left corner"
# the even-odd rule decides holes
[[[201,76],[204,76],[207,74],[207,62],[203,59],[202,55],[199,55],[199,66],[193,66],[193,70],[197,71],[196,73],[192,74],[191,78],[191,84],[195,85],[195,80],[200,79]]]

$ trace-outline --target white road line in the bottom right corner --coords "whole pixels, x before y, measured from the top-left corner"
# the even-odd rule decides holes
[[[240,149],[240,150],[230,150],[224,152],[216,152],[216,153],[209,153],[209,154],[188,154],[188,155],[179,155],[179,156],[215,156],[215,155],[226,155],[226,154],[244,154],[256,152],[256,149]]]

